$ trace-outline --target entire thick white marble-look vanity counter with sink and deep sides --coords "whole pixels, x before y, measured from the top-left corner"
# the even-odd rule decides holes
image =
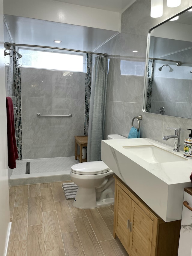
[[[183,151],[148,138],[102,140],[101,160],[164,221],[182,218],[184,188],[192,187]]]

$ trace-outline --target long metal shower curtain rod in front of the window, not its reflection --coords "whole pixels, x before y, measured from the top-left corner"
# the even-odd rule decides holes
[[[6,48],[7,50],[9,50],[11,46],[37,47],[37,48],[46,48],[46,49],[53,49],[53,50],[72,51],[72,52],[78,52],[78,53],[91,53],[91,54],[101,55],[104,57],[108,56],[106,53],[92,53],[92,52],[67,49],[67,48],[59,48],[59,47],[51,47],[51,46],[43,46],[43,45],[33,45],[33,44],[12,44],[12,43],[7,43],[7,42],[4,43],[4,48]]]

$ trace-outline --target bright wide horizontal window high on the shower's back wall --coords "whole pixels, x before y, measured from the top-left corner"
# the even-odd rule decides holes
[[[29,50],[19,48],[22,58],[18,59],[19,67],[42,68],[62,71],[86,72],[86,54],[64,51]]]

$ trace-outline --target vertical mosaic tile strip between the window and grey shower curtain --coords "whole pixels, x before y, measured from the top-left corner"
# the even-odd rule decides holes
[[[87,53],[87,73],[85,74],[85,122],[84,136],[88,136],[89,106],[91,97],[92,54]]]

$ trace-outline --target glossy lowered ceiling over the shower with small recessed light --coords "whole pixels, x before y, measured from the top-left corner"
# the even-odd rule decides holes
[[[93,51],[117,31],[4,15],[13,42]],[[98,35],[97,37],[95,35]],[[7,39],[8,40],[8,39]],[[7,41],[5,40],[5,41]],[[54,43],[60,40],[61,43]],[[8,40],[9,41],[9,40]]]

